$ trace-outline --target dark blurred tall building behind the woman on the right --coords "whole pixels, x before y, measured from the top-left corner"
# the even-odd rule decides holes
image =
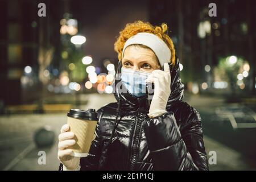
[[[220,57],[236,55],[249,61],[250,84],[255,93],[256,6],[254,1],[214,1],[217,16],[208,15],[212,1],[150,1],[150,22],[166,22],[177,56],[184,64],[183,81],[212,82],[212,71]]]

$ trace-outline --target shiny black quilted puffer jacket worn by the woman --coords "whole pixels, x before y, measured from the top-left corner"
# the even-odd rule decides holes
[[[118,102],[98,110],[96,139],[89,156],[80,160],[81,170],[208,170],[200,114],[182,101],[176,60],[168,112],[150,119],[146,97],[137,99],[116,88]],[[115,83],[119,81],[116,76]]]

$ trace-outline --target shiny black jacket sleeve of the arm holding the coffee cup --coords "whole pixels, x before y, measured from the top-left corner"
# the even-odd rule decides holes
[[[98,169],[98,163],[101,156],[101,148],[102,148],[102,142],[101,142],[101,135],[100,135],[100,120],[101,115],[103,113],[102,109],[97,111],[98,113],[98,123],[96,126],[96,130],[94,131],[94,134],[96,135],[96,138],[93,140],[92,145],[90,146],[90,151],[87,157],[80,159],[80,171],[85,170],[97,170]],[[60,163],[59,171],[63,171],[63,164]]]

